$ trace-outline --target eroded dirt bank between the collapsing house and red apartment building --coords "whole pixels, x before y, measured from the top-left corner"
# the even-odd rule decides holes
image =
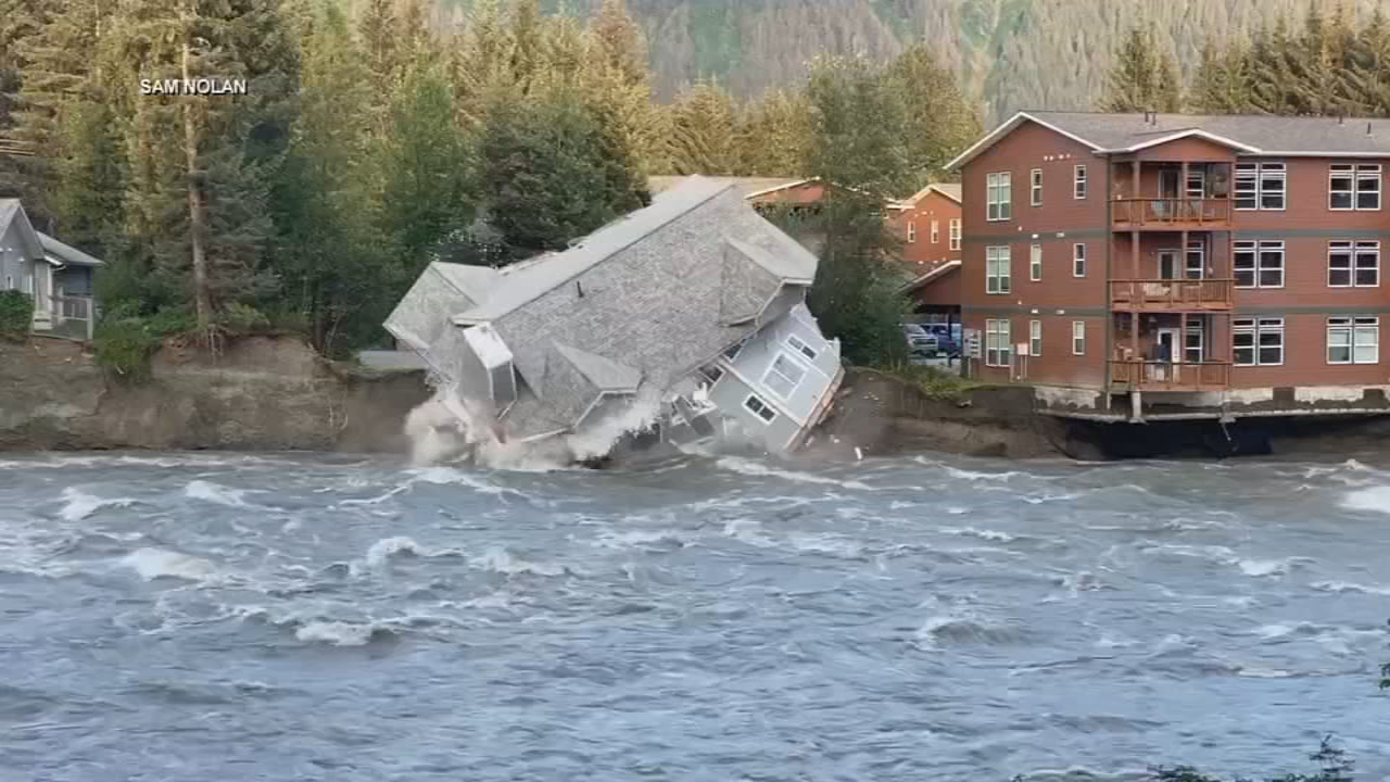
[[[867,369],[845,374],[830,415],[810,444],[813,455],[853,458],[944,451],[1027,459],[1069,455],[1098,458],[1069,427],[1033,412],[1033,390],[986,387],[960,401],[929,398],[915,385]]]

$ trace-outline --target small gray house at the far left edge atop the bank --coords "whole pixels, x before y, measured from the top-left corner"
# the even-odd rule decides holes
[[[33,296],[33,330],[92,337],[103,262],[36,231],[18,199],[0,199],[0,289]]]

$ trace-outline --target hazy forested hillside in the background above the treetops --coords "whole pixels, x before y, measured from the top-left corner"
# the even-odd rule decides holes
[[[356,0],[361,1],[361,0]],[[436,22],[471,0],[436,0]],[[737,96],[798,81],[821,53],[885,60],[926,40],[956,67],[987,120],[1015,109],[1090,109],[1123,32],[1148,21],[1186,75],[1207,33],[1302,17],[1309,0],[631,0],[646,31],[657,96],[717,78]],[[1336,0],[1314,0],[1330,14]],[[1390,0],[1344,0],[1366,13]],[[549,0],[553,13],[560,0]],[[587,13],[598,0],[569,0]]]

